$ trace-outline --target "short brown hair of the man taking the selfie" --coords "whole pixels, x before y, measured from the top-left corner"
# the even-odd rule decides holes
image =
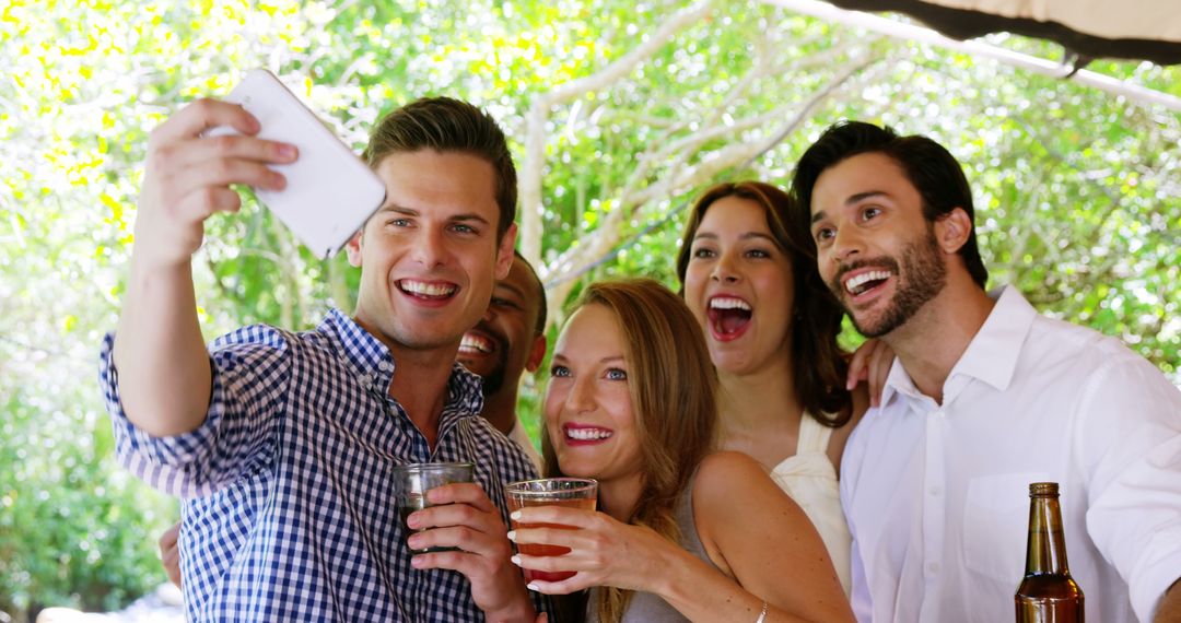
[[[469,153],[492,165],[496,204],[501,209],[496,232],[503,236],[516,219],[516,166],[496,120],[458,99],[417,99],[386,114],[373,127],[364,157],[371,169],[377,169],[390,153],[424,149]]]

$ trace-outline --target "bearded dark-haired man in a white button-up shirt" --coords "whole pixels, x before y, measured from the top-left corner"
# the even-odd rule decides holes
[[[971,191],[920,136],[842,122],[791,227],[857,330],[898,354],[844,450],[862,622],[1012,621],[1029,484],[1057,481],[1087,618],[1181,618],[1181,392],[1117,340],[987,293]]]

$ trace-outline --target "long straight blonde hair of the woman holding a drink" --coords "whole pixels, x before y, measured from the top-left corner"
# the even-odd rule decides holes
[[[650,278],[601,281],[582,293],[572,313],[603,306],[619,323],[635,415],[644,478],[627,523],[644,525],[679,543],[677,503],[693,472],[713,448],[717,373],[705,336],[685,302]],[[548,435],[542,435],[546,472],[560,474]],[[632,591],[603,586],[594,608],[603,622],[619,621]]]

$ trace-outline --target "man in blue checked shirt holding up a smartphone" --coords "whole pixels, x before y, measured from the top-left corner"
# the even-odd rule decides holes
[[[208,127],[239,136],[202,138]],[[100,378],[120,460],[187,498],[188,616],[266,621],[534,621],[509,562],[505,481],[534,470],[455,363],[513,262],[516,173],[495,122],[448,98],[374,129],[365,156],[386,201],[348,243],[354,315],[315,330],[253,326],[203,343],[191,255],[230,184],[279,190],[292,145],[255,137],[240,106],[200,100],[149,142],[118,332]],[[326,206],[331,209],[331,206]],[[391,468],[471,460],[477,484],[432,490],[410,516]]]

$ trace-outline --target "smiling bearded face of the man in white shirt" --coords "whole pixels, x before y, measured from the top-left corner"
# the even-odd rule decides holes
[[[853,156],[816,179],[811,201],[816,261],[863,335],[906,324],[947,282],[922,198],[886,155]]]

